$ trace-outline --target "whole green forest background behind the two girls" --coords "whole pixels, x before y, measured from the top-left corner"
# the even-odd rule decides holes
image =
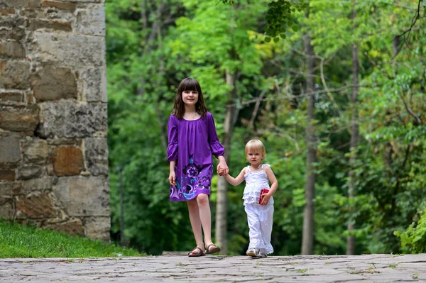
[[[175,92],[194,77],[231,174],[248,140],[266,145],[274,255],[426,252],[423,1],[223,2],[107,0],[113,238],[122,167],[128,245],[194,248],[165,156]],[[249,243],[243,190],[213,179],[213,235],[229,255]]]

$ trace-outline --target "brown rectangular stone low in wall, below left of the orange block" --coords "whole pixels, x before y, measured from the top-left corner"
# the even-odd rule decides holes
[[[17,218],[53,218],[55,206],[50,194],[36,194],[18,197],[16,200]]]

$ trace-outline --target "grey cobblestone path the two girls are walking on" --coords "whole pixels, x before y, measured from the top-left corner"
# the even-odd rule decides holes
[[[0,259],[0,282],[426,282],[426,254]]]

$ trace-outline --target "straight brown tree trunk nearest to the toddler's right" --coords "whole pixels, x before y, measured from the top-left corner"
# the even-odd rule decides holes
[[[309,13],[307,13],[307,17]],[[313,163],[317,161],[317,146],[315,138],[315,53],[311,45],[311,38],[305,34],[303,37],[306,54],[306,93],[307,93],[307,113],[306,113],[306,142],[307,142],[307,159],[306,159],[306,184],[305,184],[305,211],[303,216],[303,234],[302,234],[302,255],[311,255],[314,243],[314,211],[315,211],[315,177]]]

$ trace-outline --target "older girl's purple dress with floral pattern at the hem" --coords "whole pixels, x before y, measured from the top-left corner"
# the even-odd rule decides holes
[[[170,115],[167,159],[176,160],[176,186],[170,185],[170,201],[187,201],[210,195],[213,158],[224,155],[212,113],[194,121]]]

